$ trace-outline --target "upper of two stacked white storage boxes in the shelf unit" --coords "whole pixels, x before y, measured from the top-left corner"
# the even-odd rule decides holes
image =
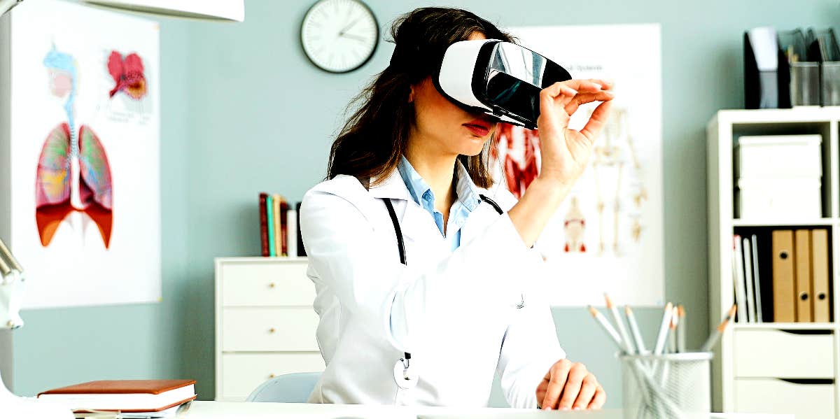
[[[762,135],[738,138],[735,177],[822,177],[822,135]]]

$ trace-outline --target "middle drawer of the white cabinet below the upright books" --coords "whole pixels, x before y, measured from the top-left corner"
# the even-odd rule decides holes
[[[222,309],[223,351],[317,351],[312,308]]]

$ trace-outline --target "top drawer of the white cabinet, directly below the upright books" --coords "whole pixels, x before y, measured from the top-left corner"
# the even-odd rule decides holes
[[[312,306],[306,260],[221,265],[223,306]]]

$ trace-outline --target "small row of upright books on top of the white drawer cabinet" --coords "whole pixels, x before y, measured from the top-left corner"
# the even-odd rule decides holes
[[[301,203],[292,204],[280,194],[260,193],[260,244],[262,255],[306,256],[297,223]]]

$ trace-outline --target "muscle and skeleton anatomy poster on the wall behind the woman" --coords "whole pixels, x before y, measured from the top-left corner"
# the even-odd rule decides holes
[[[585,173],[539,241],[556,306],[660,305],[664,297],[662,103],[658,24],[509,29],[573,78],[614,81],[612,116]],[[583,128],[596,104],[581,107]],[[503,126],[496,179],[519,196],[538,173],[538,132]]]

